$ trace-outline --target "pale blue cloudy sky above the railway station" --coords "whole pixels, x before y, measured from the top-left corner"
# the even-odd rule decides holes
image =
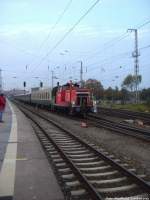
[[[70,77],[79,79],[80,60],[83,61],[84,79],[96,78],[105,87],[120,85],[128,73],[133,73],[134,37],[126,30],[150,20],[149,0],[100,1],[45,57],[94,2],[0,0],[0,67],[5,88],[22,87],[24,80],[28,87],[36,86],[40,80],[50,85],[52,69],[61,83]],[[138,35],[139,48],[150,45],[150,23],[140,28]],[[119,41],[120,36],[123,39]],[[150,48],[140,50],[142,88],[150,86],[149,57]]]

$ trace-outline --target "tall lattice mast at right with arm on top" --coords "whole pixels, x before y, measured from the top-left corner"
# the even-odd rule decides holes
[[[139,59],[140,56],[138,51],[138,30],[137,29],[128,29],[128,31],[134,32],[135,34],[135,49],[132,53],[134,59],[134,75],[135,75],[135,102],[139,102]]]

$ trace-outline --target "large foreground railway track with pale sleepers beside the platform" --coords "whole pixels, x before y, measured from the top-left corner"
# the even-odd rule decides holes
[[[26,106],[19,108],[32,121],[66,199],[148,197],[150,185],[135,168],[81,140],[46,115]]]

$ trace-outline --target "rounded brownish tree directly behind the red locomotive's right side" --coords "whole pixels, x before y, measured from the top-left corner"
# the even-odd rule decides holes
[[[104,88],[100,81],[96,79],[88,79],[85,81],[84,86],[92,90],[93,95],[97,100],[103,98]]]

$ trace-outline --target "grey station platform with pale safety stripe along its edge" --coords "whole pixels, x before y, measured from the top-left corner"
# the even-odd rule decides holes
[[[0,200],[63,200],[28,119],[7,101],[3,120],[0,123]]]

